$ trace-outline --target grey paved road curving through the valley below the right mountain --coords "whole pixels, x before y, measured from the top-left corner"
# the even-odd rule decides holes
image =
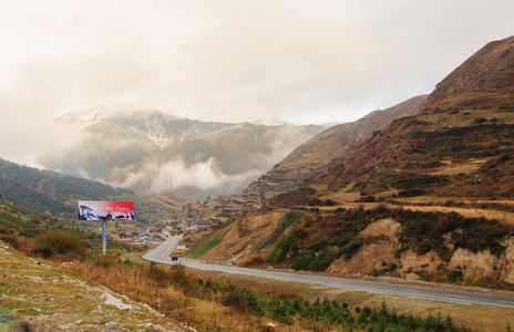
[[[169,253],[177,245],[178,239],[172,238],[161,246],[144,255],[143,258],[165,264],[172,264]],[[277,272],[238,267],[225,267],[196,262],[194,260],[181,259],[183,266],[198,270],[214,270],[227,273],[255,276],[260,278],[301,282],[309,284],[321,284],[333,288],[345,288],[371,293],[381,293],[395,297],[415,298],[432,301],[442,301],[461,304],[480,304],[492,307],[514,308],[514,297],[485,294],[479,292],[466,292],[456,290],[441,290],[428,287],[405,286],[398,283],[374,282],[366,280],[342,279],[335,277],[311,276],[291,272]]]

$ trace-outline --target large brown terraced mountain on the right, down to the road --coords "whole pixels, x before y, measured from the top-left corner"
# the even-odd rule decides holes
[[[513,156],[514,37],[472,55],[412,115],[230,224],[201,259],[512,284]]]

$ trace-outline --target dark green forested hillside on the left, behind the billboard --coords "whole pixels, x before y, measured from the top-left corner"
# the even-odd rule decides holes
[[[133,200],[137,221],[164,219],[172,210],[196,200],[178,193],[146,197],[100,181],[21,166],[0,159],[0,197],[38,212],[76,218],[79,200]]]

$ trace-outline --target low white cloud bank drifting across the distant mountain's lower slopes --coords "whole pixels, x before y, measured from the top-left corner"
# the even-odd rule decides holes
[[[228,195],[239,193],[290,154],[301,142],[311,135],[300,128],[284,125],[279,136],[273,142],[268,154],[253,156],[251,169],[235,175],[220,170],[225,160],[210,157],[205,163],[189,164],[182,157],[162,162],[147,158],[135,167],[117,168],[104,180],[113,186],[130,188],[142,194],[163,194],[169,190],[169,183],[183,194],[203,199],[207,195]],[[236,165],[232,165],[235,167]]]

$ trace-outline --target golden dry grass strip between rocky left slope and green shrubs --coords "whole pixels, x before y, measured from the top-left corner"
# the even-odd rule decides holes
[[[189,270],[185,270],[185,277],[192,283],[179,286],[166,279],[151,278],[147,276],[147,268],[137,266],[113,262],[110,267],[103,267],[84,261],[74,263],[73,271],[85,276],[90,283],[105,286],[137,302],[146,303],[174,321],[191,325],[198,331],[260,331],[270,321],[222,305],[219,299],[212,298],[217,294],[202,293],[202,288],[195,283],[198,276]],[[208,299],[209,297],[212,299]],[[299,330],[301,329],[298,326],[282,325],[277,331]]]

